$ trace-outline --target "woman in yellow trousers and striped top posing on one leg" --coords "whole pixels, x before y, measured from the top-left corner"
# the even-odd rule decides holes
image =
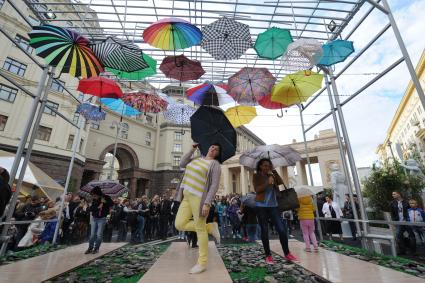
[[[217,243],[220,242],[217,223],[206,224],[211,202],[220,184],[220,145],[211,145],[205,157],[192,158],[197,147],[198,145],[194,144],[192,150],[185,154],[180,162],[180,167],[186,169],[176,196],[176,200],[181,202],[176,215],[176,229],[195,231],[198,236],[198,262],[190,270],[191,274],[206,270],[208,234],[211,234]]]

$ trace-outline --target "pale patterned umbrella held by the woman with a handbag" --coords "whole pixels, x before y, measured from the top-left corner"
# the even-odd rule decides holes
[[[301,155],[287,145],[260,145],[254,149],[244,152],[239,157],[239,163],[252,169],[256,169],[258,161],[269,158],[274,167],[294,166],[301,160]]]

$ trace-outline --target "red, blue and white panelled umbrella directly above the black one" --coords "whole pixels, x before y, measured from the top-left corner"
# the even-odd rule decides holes
[[[223,84],[221,84],[223,86]],[[197,105],[223,105],[235,102],[220,85],[203,83],[186,90],[187,98]]]

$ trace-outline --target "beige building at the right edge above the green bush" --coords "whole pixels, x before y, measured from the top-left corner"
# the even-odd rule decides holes
[[[425,50],[416,66],[416,74],[424,88]],[[381,161],[391,158],[408,159],[417,155],[425,160],[425,111],[412,83],[409,82],[403,98],[387,130],[387,136],[378,145],[376,153]],[[401,155],[401,156],[400,156]]]

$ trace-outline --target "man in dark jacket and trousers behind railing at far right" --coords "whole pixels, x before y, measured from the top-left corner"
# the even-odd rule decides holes
[[[401,197],[400,192],[394,191],[392,193],[393,201],[391,202],[391,218],[394,221],[409,221],[409,203]],[[407,225],[397,225],[397,246],[398,253],[404,254],[406,252],[406,245],[404,240],[404,232],[409,234],[409,247],[411,252],[414,254],[416,252],[416,238],[413,233],[411,226]]]

